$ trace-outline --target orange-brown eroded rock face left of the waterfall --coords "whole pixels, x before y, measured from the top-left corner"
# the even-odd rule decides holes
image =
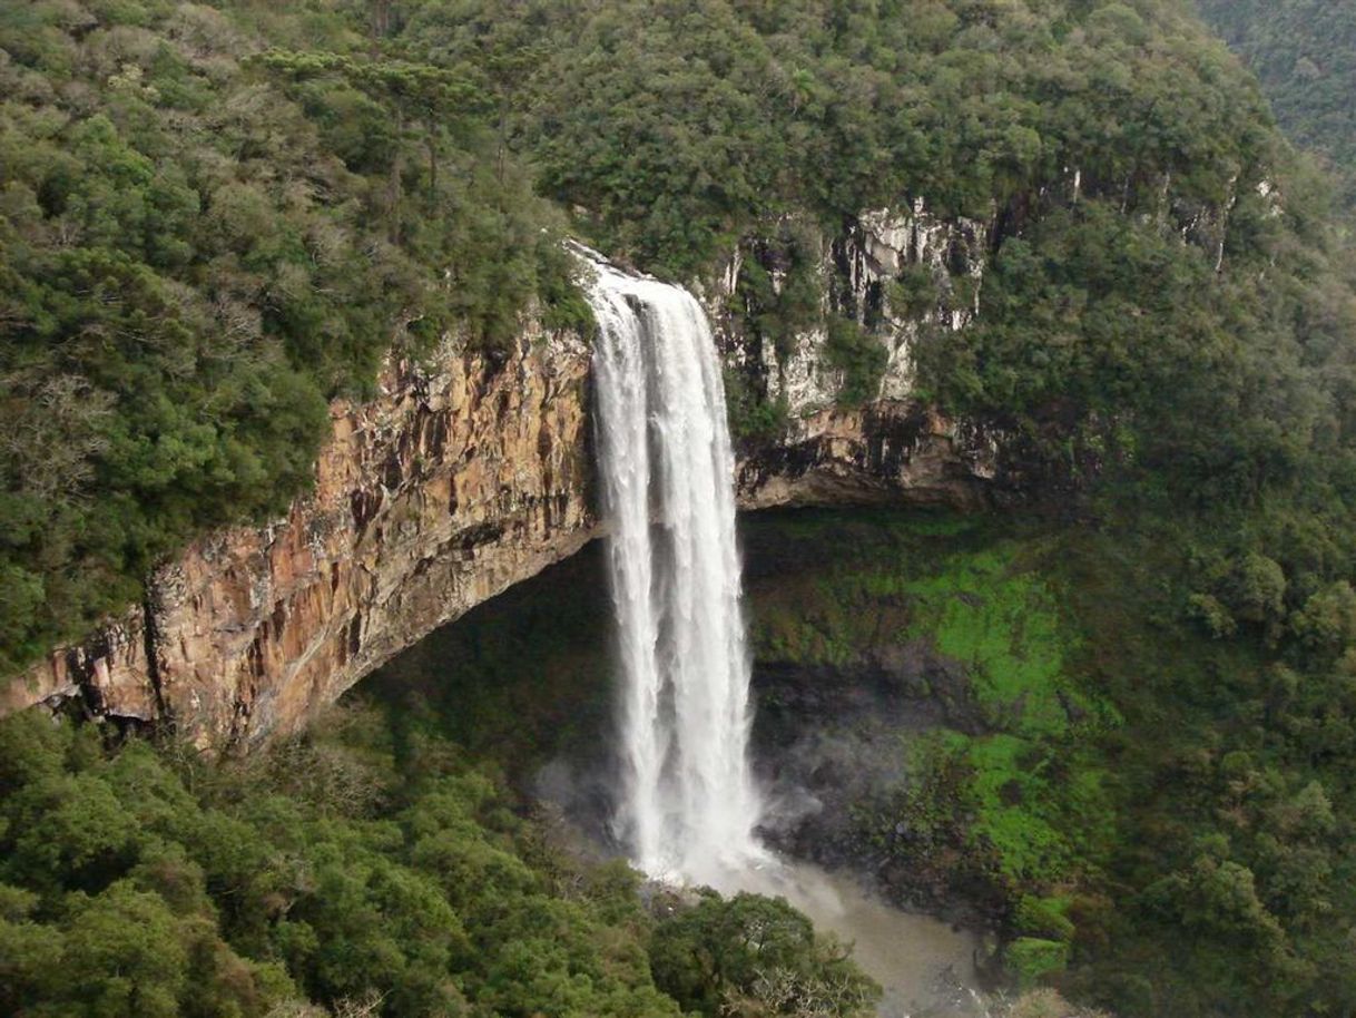
[[[245,747],[434,627],[574,554],[589,506],[589,349],[529,331],[502,366],[447,349],[336,402],[313,494],[285,520],[198,542],[146,604],[14,680],[0,710],[81,696]]]

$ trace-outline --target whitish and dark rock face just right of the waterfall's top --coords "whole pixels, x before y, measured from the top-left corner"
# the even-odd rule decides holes
[[[785,251],[763,239],[732,252],[705,301],[728,368],[758,399],[780,403],[788,421],[778,441],[744,449],[743,505],[907,499],[968,509],[989,501],[999,480],[998,437],[948,421],[911,394],[919,333],[960,330],[975,315],[990,227],[937,217],[919,200],[906,210],[864,212],[834,236],[805,224],[797,232],[812,248],[808,270],[819,295],[812,324],[791,337],[750,327],[757,316],[743,285],[746,263],[758,262],[776,293],[788,285]],[[913,308],[896,307],[894,284],[910,270],[928,281],[930,295]],[[957,281],[968,290],[964,300],[957,300]],[[835,404],[842,372],[831,366],[822,324],[833,318],[854,322],[884,347],[876,399],[862,409]]]

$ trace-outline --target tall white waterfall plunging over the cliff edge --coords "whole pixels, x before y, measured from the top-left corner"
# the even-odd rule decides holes
[[[645,873],[725,884],[759,858],[759,797],[720,361],[690,293],[593,261],[598,460],[624,687],[616,833]]]

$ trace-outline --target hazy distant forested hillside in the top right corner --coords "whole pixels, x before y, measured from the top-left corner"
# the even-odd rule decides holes
[[[1356,208],[1356,4],[1352,0],[1197,0],[1261,80],[1280,125],[1325,156]]]

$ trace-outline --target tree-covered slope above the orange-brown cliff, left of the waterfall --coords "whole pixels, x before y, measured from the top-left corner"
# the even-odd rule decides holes
[[[372,45],[325,5],[0,10],[0,672],[277,514],[392,347],[575,307],[475,72]]]

